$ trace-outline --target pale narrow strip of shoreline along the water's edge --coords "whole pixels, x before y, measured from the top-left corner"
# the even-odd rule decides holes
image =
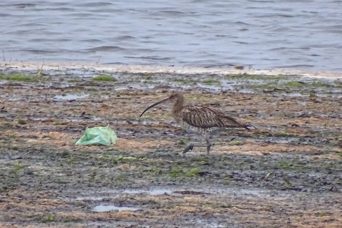
[[[43,65],[43,67],[42,67]],[[173,66],[150,66],[150,65],[117,65],[117,64],[92,64],[92,63],[58,63],[58,62],[2,62],[0,70],[97,70],[108,72],[129,72],[129,73],[177,73],[177,74],[249,74],[249,75],[298,75],[309,78],[340,79],[342,72],[335,71],[310,71],[298,69],[235,69],[229,68],[201,68],[201,67],[173,67]]]

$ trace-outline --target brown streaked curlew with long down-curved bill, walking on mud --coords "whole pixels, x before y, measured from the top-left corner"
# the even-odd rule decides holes
[[[210,147],[212,146],[209,136],[214,134],[214,132],[225,128],[245,128],[249,130],[248,127],[252,126],[239,123],[234,118],[227,116],[224,112],[206,105],[184,105],[184,96],[181,92],[174,92],[170,97],[149,106],[141,113],[140,117],[148,109],[167,101],[173,102],[172,115],[175,121],[185,131],[200,133],[205,137],[208,155]],[[190,144],[183,152],[185,153],[193,147],[194,145]]]

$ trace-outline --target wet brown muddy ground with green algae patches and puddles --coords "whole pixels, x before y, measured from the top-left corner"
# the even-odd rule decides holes
[[[18,74],[22,74],[18,76]],[[112,81],[93,80],[107,74]],[[1,68],[4,227],[342,227],[342,80],[299,75]],[[108,79],[108,78],[107,78]],[[190,103],[257,130],[203,142],[172,121]],[[76,146],[110,124],[113,146]]]

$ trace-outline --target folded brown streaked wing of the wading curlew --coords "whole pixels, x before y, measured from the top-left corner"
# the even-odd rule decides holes
[[[179,115],[183,121],[197,128],[247,128],[248,126],[217,109],[203,105],[186,105]]]

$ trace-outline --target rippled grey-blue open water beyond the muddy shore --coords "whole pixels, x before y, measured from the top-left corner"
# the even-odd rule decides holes
[[[6,61],[342,70],[341,0],[23,2],[0,2]]]

